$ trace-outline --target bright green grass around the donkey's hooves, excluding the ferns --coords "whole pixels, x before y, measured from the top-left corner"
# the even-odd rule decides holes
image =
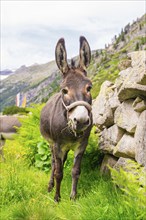
[[[2,220],[138,220],[145,219],[136,201],[103,178],[96,161],[92,161],[90,140],[82,163],[78,198],[70,201],[72,153],[64,169],[61,202],[53,200],[54,190],[47,193],[49,174],[28,167],[26,150],[17,141],[7,141],[6,162],[1,163],[0,217]],[[95,154],[94,154],[95,155]],[[90,166],[90,164],[92,166]],[[98,161],[97,161],[98,164]],[[94,165],[94,167],[93,167]],[[137,198],[135,198],[136,200]],[[126,201],[128,201],[126,203]]]

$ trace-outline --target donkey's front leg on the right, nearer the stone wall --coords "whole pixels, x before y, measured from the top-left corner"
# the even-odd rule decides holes
[[[78,153],[78,155],[76,155],[74,159],[74,166],[72,169],[72,190],[71,190],[70,199],[75,199],[77,195],[77,184],[81,173],[81,161],[84,151],[85,149],[82,150],[80,153]]]

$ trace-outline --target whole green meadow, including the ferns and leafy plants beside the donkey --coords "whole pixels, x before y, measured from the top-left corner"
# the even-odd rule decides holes
[[[145,187],[138,177],[121,170],[112,170],[112,177],[100,174],[103,158],[98,149],[98,136],[93,128],[82,161],[78,198],[70,200],[70,152],[64,168],[61,202],[54,202],[54,190],[47,192],[50,175],[50,151],[39,133],[40,106],[22,123],[18,136],[4,147],[1,160],[1,220],[144,220]],[[36,125],[36,126],[35,126]]]

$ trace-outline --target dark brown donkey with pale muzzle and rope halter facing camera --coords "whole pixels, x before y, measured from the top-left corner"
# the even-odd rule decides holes
[[[80,37],[80,60],[77,67],[69,66],[65,41],[61,38],[55,50],[56,63],[63,75],[61,91],[52,96],[41,112],[40,130],[51,145],[52,171],[48,191],[56,183],[54,200],[59,201],[63,179],[63,165],[69,150],[74,151],[71,199],[77,195],[77,183],[81,172],[81,160],[88,144],[92,128],[90,90],[91,81],[86,68],[91,60],[91,50],[85,37]]]

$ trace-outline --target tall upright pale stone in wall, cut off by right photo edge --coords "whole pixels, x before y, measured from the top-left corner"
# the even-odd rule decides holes
[[[135,159],[146,167],[146,110],[141,113],[135,131]]]

